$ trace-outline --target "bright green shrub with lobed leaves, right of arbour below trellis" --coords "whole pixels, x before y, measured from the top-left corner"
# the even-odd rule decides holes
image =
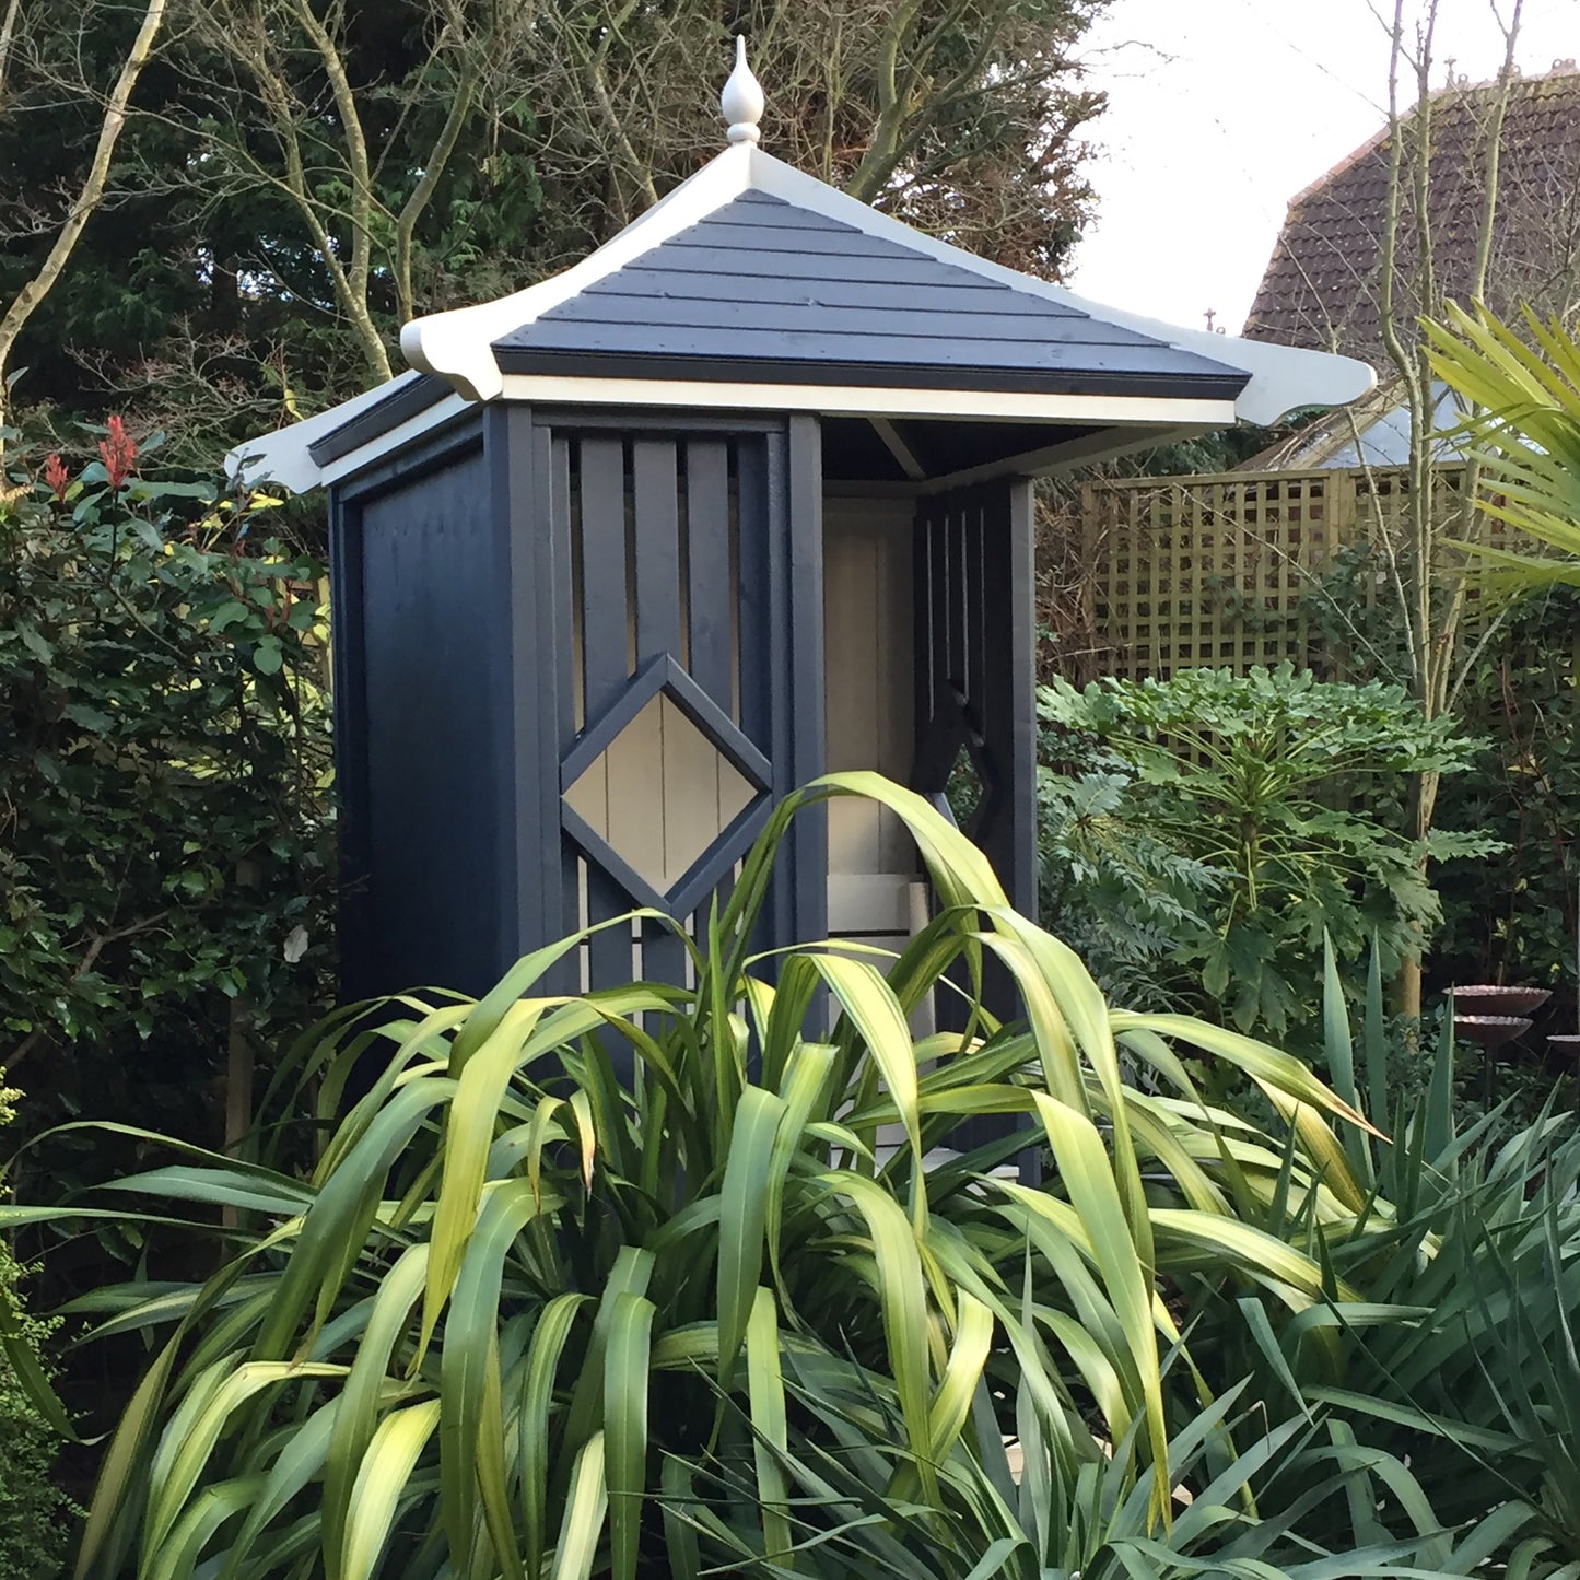
[[[1041,716],[1055,757],[1071,735],[1108,754],[1073,787],[1044,787],[1044,809],[1062,798],[1071,811],[1048,852],[1065,904],[1112,916],[1119,883],[1138,948],[1199,978],[1242,1030],[1315,1024],[1324,934],[1349,961],[1376,937],[1394,970],[1441,921],[1424,860],[1496,848],[1395,831],[1403,776],[1460,773],[1476,750],[1398,686],[1318,681],[1288,664],[1084,690],[1054,681]],[[1074,796],[1087,811],[1073,812]]]

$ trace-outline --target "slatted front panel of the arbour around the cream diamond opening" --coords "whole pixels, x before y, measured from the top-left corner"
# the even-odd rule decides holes
[[[566,687],[558,763],[626,690],[634,665],[672,654],[768,757],[771,795],[823,769],[820,428],[815,419],[792,425],[793,438],[694,430],[672,441],[640,422],[619,439],[608,430],[551,436],[539,498],[545,525],[564,526],[577,550],[575,629],[561,641],[580,649],[585,689],[578,705]],[[698,727],[664,700],[626,724],[572,795],[592,833],[664,893],[750,798]],[[798,818],[765,942],[820,935],[825,847],[822,817]],[[596,924],[634,907],[596,855],[562,837],[561,848],[574,921]],[[730,886],[720,885],[720,897]],[[672,983],[687,976],[683,942],[646,924],[610,929],[583,959],[594,986],[634,969]]]

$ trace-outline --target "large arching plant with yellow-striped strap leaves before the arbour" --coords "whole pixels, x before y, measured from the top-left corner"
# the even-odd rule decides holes
[[[937,916],[897,959],[754,957],[784,830],[834,795],[905,822]],[[891,1556],[942,1552],[946,1490],[1002,1493],[1006,1438],[1048,1531],[1097,1477],[1158,1534],[1198,1462],[1180,1433],[1209,1480],[1237,1452],[1182,1291],[1289,1311],[1349,1292],[1311,1234],[1376,1215],[1330,1127],[1364,1128],[1357,1104],[1250,1038],[1109,1006],[964,836],[874,774],[776,811],[687,945],[695,986],[540,994],[577,945],[477,1002],[330,1021],[270,1100],[318,1093],[305,1176],[179,1147],[114,1187],[125,1207],[0,1212],[218,1242],[201,1283],[77,1304],[87,1340],[152,1346],[79,1575],[632,1580],[739,1563],[741,1542],[815,1574],[812,1536],[853,1518]],[[1014,1022],[983,1003],[989,957]],[[915,1035],[946,994],[965,1029]],[[1243,1071],[1288,1128],[1209,1108],[1187,1057]],[[351,1100],[354,1070],[373,1078]],[[953,1153],[976,1115],[1035,1125],[1046,1183],[1003,1168],[1024,1134]],[[1258,1226],[1278,1215],[1311,1243]],[[830,1457],[882,1501],[858,1507],[815,1471]]]

